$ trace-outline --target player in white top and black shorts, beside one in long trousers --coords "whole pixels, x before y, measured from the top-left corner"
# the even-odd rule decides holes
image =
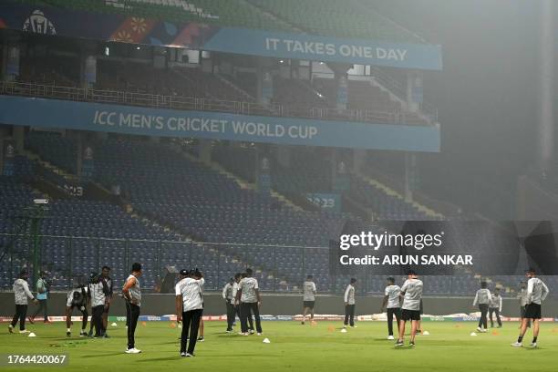
[[[396,346],[405,345],[403,337],[405,335],[405,325],[411,322],[411,339],[409,346],[415,346],[415,336],[417,336],[417,326],[420,320],[420,299],[422,298],[423,284],[418,280],[418,275],[410,270],[407,275],[408,279],[401,287],[401,296],[403,297],[403,305],[401,306],[401,322],[399,322],[399,337]]]

